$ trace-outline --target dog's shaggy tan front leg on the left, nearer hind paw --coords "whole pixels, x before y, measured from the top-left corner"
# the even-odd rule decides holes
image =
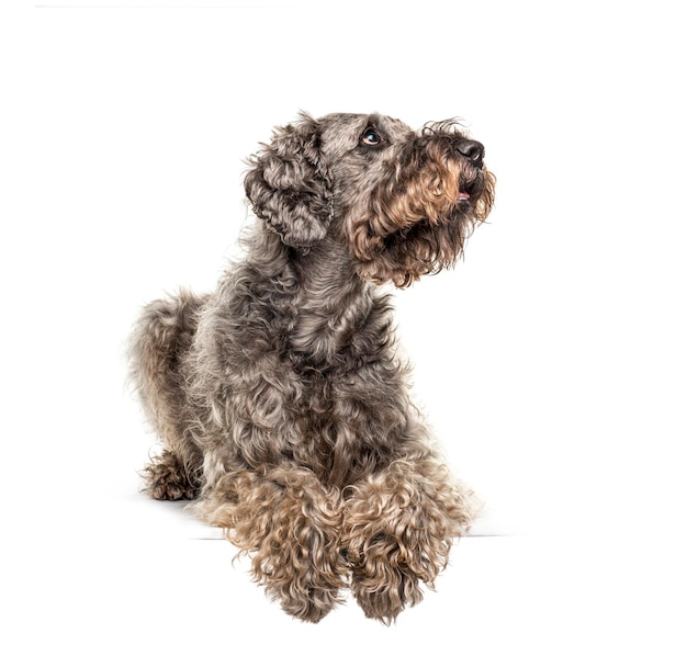
[[[286,613],[316,623],[341,601],[348,567],[339,544],[340,494],[312,471],[283,464],[226,474],[199,513],[252,555],[255,580]]]

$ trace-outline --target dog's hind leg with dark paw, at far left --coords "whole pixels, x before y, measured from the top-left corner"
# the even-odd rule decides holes
[[[191,499],[201,486],[203,460],[188,428],[184,359],[204,301],[182,292],[148,304],[131,342],[132,377],[165,445],[143,472],[146,491],[158,500]]]

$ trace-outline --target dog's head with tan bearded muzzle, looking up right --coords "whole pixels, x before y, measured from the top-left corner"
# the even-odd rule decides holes
[[[453,122],[414,132],[379,114],[302,114],[249,160],[254,211],[292,247],[344,241],[360,275],[405,286],[451,267],[488,215],[484,147]]]

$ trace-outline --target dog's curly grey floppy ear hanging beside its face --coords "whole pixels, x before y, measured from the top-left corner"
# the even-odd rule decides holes
[[[248,165],[244,184],[252,210],[284,244],[309,248],[327,235],[331,180],[317,121],[301,114],[296,124],[278,127]]]

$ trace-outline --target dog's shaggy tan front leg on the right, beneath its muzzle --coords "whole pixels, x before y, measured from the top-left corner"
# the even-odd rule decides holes
[[[431,455],[405,459],[350,488],[342,546],[365,615],[391,623],[423,599],[475,512],[471,491]]]

